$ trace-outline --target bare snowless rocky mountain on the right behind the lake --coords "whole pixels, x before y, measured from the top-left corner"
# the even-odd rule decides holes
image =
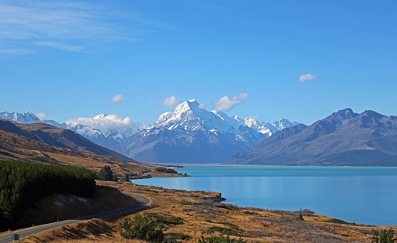
[[[344,109],[314,122],[288,127],[225,164],[397,165],[397,117]]]

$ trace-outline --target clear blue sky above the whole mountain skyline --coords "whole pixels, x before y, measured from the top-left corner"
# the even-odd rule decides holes
[[[260,122],[397,115],[396,12],[396,1],[0,0],[0,110],[153,123],[195,98]]]

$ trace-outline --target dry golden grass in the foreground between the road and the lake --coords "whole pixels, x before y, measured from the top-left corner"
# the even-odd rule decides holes
[[[232,230],[248,242],[371,242],[372,229],[388,227],[354,226],[330,223],[332,218],[310,211],[280,211],[261,208],[238,207],[204,197],[219,197],[218,192],[184,191],[133,183],[98,181],[99,185],[118,188],[149,197],[150,208],[140,213],[155,213],[167,217],[180,217],[184,223],[167,226],[166,232],[181,232],[198,242],[199,237],[219,236],[211,227]],[[24,238],[22,242],[78,242],[72,239],[87,239],[86,242],[128,242],[120,238],[118,221],[122,216],[84,222],[84,225],[68,226]],[[301,220],[304,219],[304,221]],[[91,230],[90,230],[91,229]],[[216,229],[216,228],[215,228]],[[237,236],[231,236],[237,239]],[[84,242],[84,241],[82,241]],[[140,242],[140,241],[138,241]]]

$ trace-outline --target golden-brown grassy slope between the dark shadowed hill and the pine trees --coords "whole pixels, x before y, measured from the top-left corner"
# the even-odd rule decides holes
[[[152,171],[155,168],[154,166],[138,162],[125,162],[105,156],[51,146],[3,130],[0,130],[0,158],[77,166],[97,172],[107,165],[120,176],[123,176],[126,172],[129,174],[141,174],[142,171]]]

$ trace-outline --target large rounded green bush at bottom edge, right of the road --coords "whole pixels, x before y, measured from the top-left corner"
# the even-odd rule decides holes
[[[158,223],[149,221],[146,215],[126,217],[119,224],[122,229],[120,236],[125,239],[137,239],[152,243],[164,241],[165,235],[161,227]]]

